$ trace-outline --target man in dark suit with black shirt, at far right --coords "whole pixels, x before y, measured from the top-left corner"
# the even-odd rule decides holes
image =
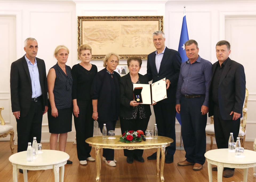
[[[238,137],[240,118],[245,100],[245,71],[243,65],[231,60],[230,43],[216,44],[218,61],[213,64],[209,93],[209,117],[214,117],[215,139],[218,148],[228,148],[230,133]],[[217,167],[213,170],[217,171]],[[234,169],[225,168],[224,177],[234,175]]]

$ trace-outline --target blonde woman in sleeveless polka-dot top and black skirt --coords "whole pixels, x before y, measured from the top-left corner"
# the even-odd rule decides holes
[[[48,123],[50,136],[50,149],[57,149],[59,136],[59,150],[65,151],[67,132],[72,129],[72,74],[71,68],[66,65],[69,57],[69,49],[66,46],[58,46],[54,51],[57,59],[48,72],[47,84],[49,95]],[[70,160],[67,164],[72,164]]]

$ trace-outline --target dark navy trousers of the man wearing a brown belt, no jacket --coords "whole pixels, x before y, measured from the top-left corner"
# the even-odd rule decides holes
[[[186,160],[191,163],[205,163],[207,114],[201,107],[205,97],[181,98],[181,133],[186,151]]]

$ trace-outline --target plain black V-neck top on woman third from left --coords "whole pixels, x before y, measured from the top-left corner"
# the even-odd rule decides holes
[[[97,72],[97,66],[94,64],[91,65],[89,71],[80,64],[75,64],[72,67],[72,99],[79,101],[91,100],[91,85]]]

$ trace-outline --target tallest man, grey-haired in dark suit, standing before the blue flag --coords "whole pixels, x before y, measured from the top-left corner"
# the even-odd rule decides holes
[[[147,56],[147,76],[153,82],[166,78],[167,99],[157,102],[154,105],[155,122],[157,123],[158,135],[170,137],[174,140],[166,148],[165,163],[173,162],[173,155],[176,150],[175,140],[175,94],[181,67],[179,53],[165,46],[165,34],[162,31],[153,33],[154,46],[156,51]],[[156,152],[147,159],[156,159]]]

